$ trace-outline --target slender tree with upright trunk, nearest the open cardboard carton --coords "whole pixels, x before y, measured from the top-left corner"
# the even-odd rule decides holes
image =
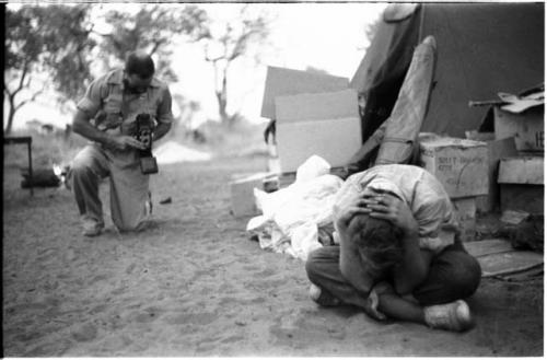
[[[202,24],[200,37],[195,40],[203,44],[206,61],[214,70],[214,94],[219,104],[219,116],[222,123],[232,125],[237,118],[236,114],[228,114],[228,74],[232,62],[247,55],[251,45],[258,45],[269,34],[268,20],[263,14],[253,15],[248,7],[243,7],[236,20],[226,21],[224,24],[217,22],[212,26],[211,20]]]

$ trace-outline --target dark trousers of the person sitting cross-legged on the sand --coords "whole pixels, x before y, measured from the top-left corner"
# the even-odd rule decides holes
[[[310,254],[305,265],[310,280],[345,303],[366,303],[344,278],[339,268],[340,246],[325,246]],[[439,253],[427,279],[414,290],[420,305],[449,303],[470,297],[480,282],[480,265],[457,242]]]

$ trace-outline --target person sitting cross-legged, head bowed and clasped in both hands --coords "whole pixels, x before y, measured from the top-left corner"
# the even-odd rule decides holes
[[[337,195],[335,243],[310,254],[311,298],[462,332],[474,325],[465,298],[480,266],[458,240],[442,185],[421,167],[379,165],[350,176]]]

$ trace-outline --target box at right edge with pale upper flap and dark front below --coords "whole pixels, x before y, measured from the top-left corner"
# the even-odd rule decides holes
[[[501,159],[498,175],[501,210],[544,213],[544,158]]]

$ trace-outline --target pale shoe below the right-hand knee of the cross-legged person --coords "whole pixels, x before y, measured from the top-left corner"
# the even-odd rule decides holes
[[[426,323],[432,328],[465,332],[475,325],[469,306],[463,300],[456,300],[447,304],[426,306],[423,312]]]

